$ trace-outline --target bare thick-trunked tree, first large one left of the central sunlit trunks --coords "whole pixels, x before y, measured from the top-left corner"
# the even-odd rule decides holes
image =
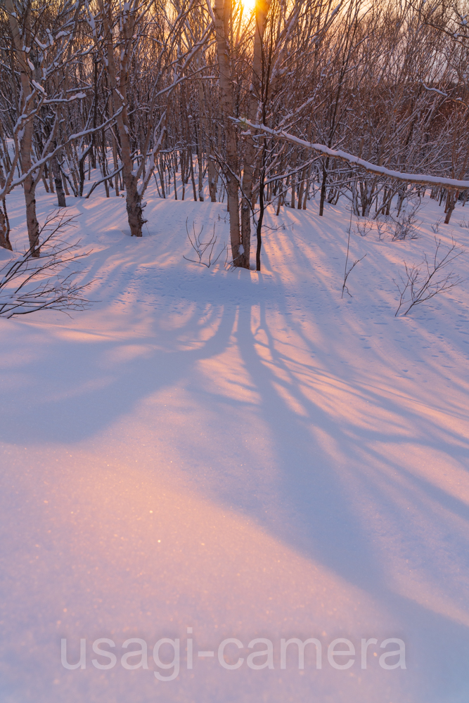
[[[142,199],[165,138],[169,98],[176,86],[197,75],[191,66],[193,58],[210,32],[211,22],[206,22],[200,39],[185,43],[191,35],[184,35],[184,25],[195,6],[195,0],[185,0],[181,6],[156,0],[131,0],[122,6],[115,0],[98,0],[98,13],[89,9],[88,22],[106,66],[117,119],[131,236],[142,236]],[[132,129],[129,87],[132,72],[146,69],[148,61],[146,101],[138,105],[147,117],[143,134]]]

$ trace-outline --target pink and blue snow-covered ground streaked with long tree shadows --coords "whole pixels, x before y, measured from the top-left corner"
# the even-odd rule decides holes
[[[366,258],[341,299],[345,201],[269,212],[259,274],[183,258],[186,221],[226,241],[226,205],[150,192],[136,240],[101,195],[68,198],[91,309],[0,320],[1,701],[466,703],[469,283],[394,317],[442,209],[425,198],[417,240],[352,233]],[[41,221],[55,202],[39,193]],[[22,193],[7,205],[21,249]],[[469,248],[466,212],[443,245]],[[86,640],[86,669],[63,667],[62,638],[71,663]],[[122,666],[129,638],[148,669]],[[180,639],[172,681],[161,638]],[[274,669],[248,666],[255,638]],[[281,638],[319,639],[322,668],[311,644],[281,669]],[[329,660],[336,638],[355,656]],[[388,638],[406,669],[380,666]]]

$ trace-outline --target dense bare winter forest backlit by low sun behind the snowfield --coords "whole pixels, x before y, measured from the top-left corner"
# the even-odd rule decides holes
[[[245,268],[265,208],[314,191],[321,216],[342,198],[376,218],[430,184],[447,224],[469,192],[468,16],[460,0],[3,0],[0,245],[20,187],[39,251],[40,181],[59,207],[103,183],[139,237],[148,183],[203,200],[207,177]]]

